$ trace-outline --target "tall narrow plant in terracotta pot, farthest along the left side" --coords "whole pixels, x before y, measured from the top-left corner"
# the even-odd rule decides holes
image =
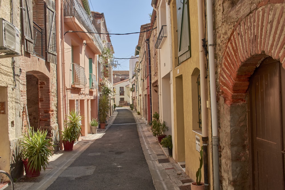
[[[99,121],[101,129],[105,129],[109,109],[109,97],[103,94],[99,99]]]

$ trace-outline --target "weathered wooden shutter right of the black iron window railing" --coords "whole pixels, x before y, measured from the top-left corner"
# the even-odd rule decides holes
[[[56,64],[55,2],[46,1],[47,61]]]

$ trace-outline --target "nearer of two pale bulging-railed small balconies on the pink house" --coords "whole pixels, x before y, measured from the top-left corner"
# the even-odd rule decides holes
[[[84,86],[87,84],[87,79],[85,75],[84,67],[72,63],[71,64],[71,72],[72,72],[72,82],[71,87],[73,88],[84,88]]]

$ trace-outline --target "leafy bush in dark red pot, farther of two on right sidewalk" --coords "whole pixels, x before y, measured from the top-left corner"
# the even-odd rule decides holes
[[[168,131],[168,126],[166,126],[165,121],[162,123],[160,122],[159,114],[157,112],[153,114],[152,118],[153,120],[149,123],[151,126],[150,130],[153,136],[157,136],[157,140],[160,143],[161,140],[166,137],[164,133]]]

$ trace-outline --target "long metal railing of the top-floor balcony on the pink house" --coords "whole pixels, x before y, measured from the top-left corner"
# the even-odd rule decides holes
[[[101,37],[95,26],[91,22],[91,16],[89,16],[85,9],[80,5],[77,0],[64,0],[64,16],[65,17],[75,17],[87,32],[93,32],[90,35],[93,38],[94,43],[97,45],[100,51],[103,51],[103,45],[101,42]]]

